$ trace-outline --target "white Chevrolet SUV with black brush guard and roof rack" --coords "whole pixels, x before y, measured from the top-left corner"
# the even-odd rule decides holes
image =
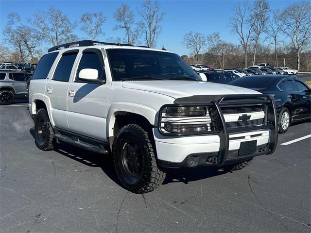
[[[203,82],[177,54],[123,44],[51,48],[29,84],[29,111],[39,149],[65,141],[112,155],[134,193],[154,190],[168,168],[241,169],[277,143],[269,95]]]

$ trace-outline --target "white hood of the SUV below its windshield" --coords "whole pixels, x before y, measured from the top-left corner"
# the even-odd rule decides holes
[[[175,99],[198,95],[261,94],[239,86],[196,81],[126,81],[122,82],[122,87],[155,92]]]

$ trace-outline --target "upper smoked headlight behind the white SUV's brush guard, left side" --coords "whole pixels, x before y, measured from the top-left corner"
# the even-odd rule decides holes
[[[170,107],[166,109],[166,116],[205,116],[206,107]]]

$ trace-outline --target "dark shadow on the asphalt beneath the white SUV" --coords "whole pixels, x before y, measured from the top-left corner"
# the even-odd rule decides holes
[[[35,138],[34,127],[31,128],[29,132]],[[86,166],[100,167],[112,181],[122,186],[117,177],[111,154],[98,154],[90,152],[65,142],[61,142],[58,148],[54,151]],[[177,182],[188,184],[193,181],[223,175],[228,172],[223,169],[208,166],[196,168],[165,168],[164,171],[167,175],[163,184]]]

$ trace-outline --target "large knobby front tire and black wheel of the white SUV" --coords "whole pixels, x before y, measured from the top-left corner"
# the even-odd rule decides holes
[[[156,164],[154,146],[140,126],[121,128],[113,144],[114,165],[122,185],[133,193],[153,191],[165,179]]]

